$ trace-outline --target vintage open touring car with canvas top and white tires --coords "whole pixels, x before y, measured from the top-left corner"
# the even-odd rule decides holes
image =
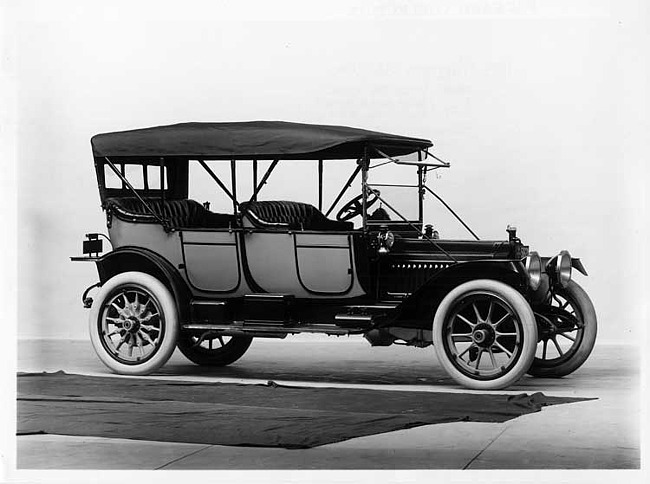
[[[572,280],[572,269],[586,275],[580,260],[567,251],[540,257],[511,227],[507,240],[479,240],[427,186],[427,173],[449,166],[429,140],[256,121],[106,133],[91,144],[108,235],[87,234],[84,255],[72,259],[97,266],[83,301],[92,344],[112,371],[151,373],[176,347],[196,364],[222,366],[253,338],[358,334],[373,346],[433,344],[458,383],[497,389],[525,373],[567,375],[593,348],[594,308]],[[262,198],[287,160],[315,165],[317,183],[299,183],[318,187],[318,207]],[[348,160],[350,175],[325,211],[324,172],[335,160]],[[373,183],[386,165],[413,170],[415,181]],[[227,210],[190,197],[197,167]],[[360,193],[340,204],[355,180]],[[413,189],[415,215],[388,200],[390,187]],[[425,225],[425,196],[472,240]],[[102,255],[103,238],[112,250]]]

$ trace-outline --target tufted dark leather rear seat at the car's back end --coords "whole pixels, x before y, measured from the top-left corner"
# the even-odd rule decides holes
[[[235,227],[234,215],[213,213],[195,200],[145,199],[156,215],[167,220],[172,227],[180,228],[226,228]],[[106,210],[119,219],[129,222],[155,223],[156,218],[135,197],[110,198],[106,201]]]

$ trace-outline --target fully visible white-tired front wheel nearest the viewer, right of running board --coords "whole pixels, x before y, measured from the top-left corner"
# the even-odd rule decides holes
[[[535,315],[512,287],[490,279],[466,282],[440,303],[433,318],[440,364],[459,384],[499,390],[530,368],[537,346]]]

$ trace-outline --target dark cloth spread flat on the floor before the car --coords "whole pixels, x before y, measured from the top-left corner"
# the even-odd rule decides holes
[[[455,421],[504,422],[583,398],[18,375],[18,433],[309,448]]]

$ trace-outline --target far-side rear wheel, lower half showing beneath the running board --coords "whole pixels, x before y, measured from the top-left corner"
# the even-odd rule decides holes
[[[222,336],[219,333],[181,333],[178,349],[201,366],[226,366],[244,356],[253,342],[250,336]]]

